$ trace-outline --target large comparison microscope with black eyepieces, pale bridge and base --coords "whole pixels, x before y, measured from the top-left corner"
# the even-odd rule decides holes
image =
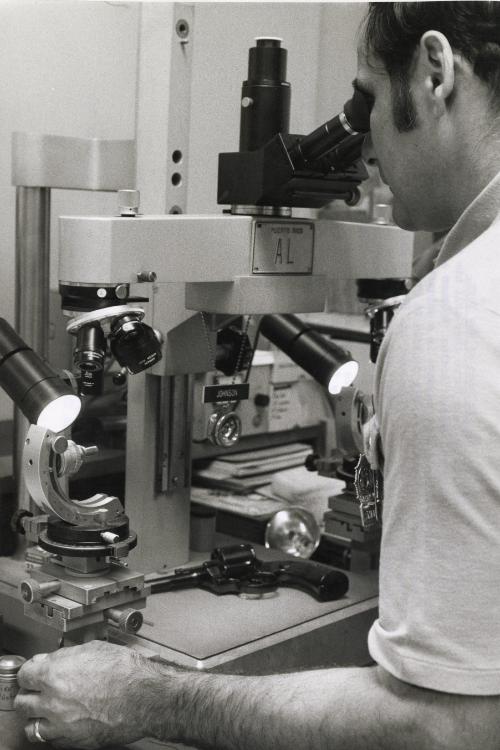
[[[289,133],[286,54],[276,38],[259,38],[250,49],[239,151],[219,157],[220,215],[143,215],[137,191],[124,190],[117,216],[59,219],[59,291],[79,394],[99,394],[110,361],[127,382],[125,497],[72,500],[67,478],[93,449],[30,427],[23,471],[43,515],[19,521],[34,545],[29,575],[12,562],[15,598],[40,624],[28,647],[30,638],[19,641],[25,652],[112,637],[219,670],[298,666],[313,642],[315,663],[324,661],[328,642],[337,644],[337,663],[367,658],[375,576],[353,574],[338,601],[317,603],[287,590],[251,602],[251,612],[248,601],[222,604],[206,591],[149,596],[156,579],[190,562],[195,377],[224,374],[202,390],[206,440],[234,450],[238,405],[249,398],[250,322],[262,322],[270,338],[283,325],[293,332],[296,314],[323,312],[329,279],[408,275],[412,242],[396,227],[293,216],[294,208],[358,200],[370,113],[356,90],[338,116],[309,135]],[[324,348],[332,349],[328,342]],[[323,345],[316,349],[311,361],[324,358]],[[308,368],[309,355],[301,365]],[[6,621],[13,593],[12,586],[0,589]]]

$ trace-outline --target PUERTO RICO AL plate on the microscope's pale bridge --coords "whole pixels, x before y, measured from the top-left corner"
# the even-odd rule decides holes
[[[312,222],[255,221],[252,273],[312,274],[313,256]]]

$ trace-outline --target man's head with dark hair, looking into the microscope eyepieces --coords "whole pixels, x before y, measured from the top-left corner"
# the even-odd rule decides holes
[[[396,222],[450,228],[500,169],[500,3],[371,3],[356,85]]]

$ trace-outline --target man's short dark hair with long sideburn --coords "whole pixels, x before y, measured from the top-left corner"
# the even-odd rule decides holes
[[[391,79],[396,126],[410,130],[416,115],[408,81],[413,56],[422,35],[441,31],[452,49],[470,62],[500,109],[500,3],[490,2],[372,2],[364,24],[368,55],[380,59]]]

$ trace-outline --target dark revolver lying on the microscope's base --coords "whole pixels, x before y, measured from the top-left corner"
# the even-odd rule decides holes
[[[151,593],[199,587],[213,594],[261,598],[290,586],[319,602],[340,599],[349,588],[345,573],[311,560],[259,560],[250,544],[216,547],[197,567],[178,568],[151,581]]]

